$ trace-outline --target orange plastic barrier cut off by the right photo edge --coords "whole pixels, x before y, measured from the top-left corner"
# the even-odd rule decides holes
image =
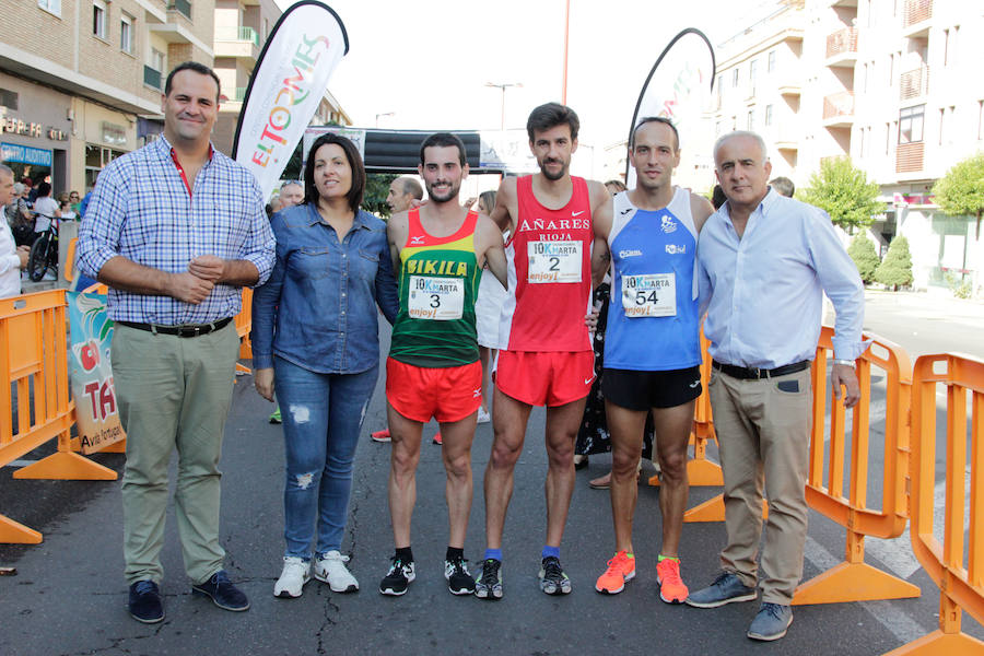
[[[936,538],[936,393],[946,386],[946,502],[942,544]],[[968,399],[968,393],[971,397]],[[971,424],[968,431],[968,406]],[[971,455],[968,462],[968,444]],[[964,564],[965,484],[970,524]],[[984,643],[962,633],[968,611],[984,622],[984,361],[968,355],[923,355],[912,380],[912,550],[939,587],[939,629],[891,652],[891,656],[984,654]]]

